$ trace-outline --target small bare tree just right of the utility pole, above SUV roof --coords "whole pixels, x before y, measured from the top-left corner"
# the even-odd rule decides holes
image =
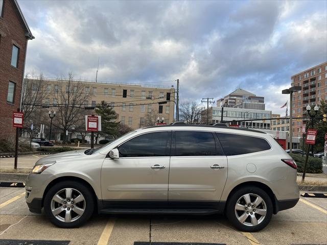
[[[179,106],[179,115],[182,121],[188,124],[199,124],[203,106],[193,102],[183,102]]]

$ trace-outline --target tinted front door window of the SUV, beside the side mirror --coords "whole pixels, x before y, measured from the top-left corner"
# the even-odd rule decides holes
[[[118,147],[120,157],[164,157],[170,154],[171,132],[136,136]]]

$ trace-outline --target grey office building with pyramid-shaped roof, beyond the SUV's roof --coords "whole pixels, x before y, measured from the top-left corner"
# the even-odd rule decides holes
[[[265,110],[265,97],[256,96],[254,93],[238,88],[222,99],[217,100],[217,106]]]

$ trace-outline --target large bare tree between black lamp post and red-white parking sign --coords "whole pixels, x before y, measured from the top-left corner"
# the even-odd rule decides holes
[[[75,129],[78,122],[84,120],[82,110],[89,97],[89,91],[84,91],[81,81],[74,81],[73,74],[69,73],[68,79],[58,79],[58,89],[54,94],[58,113],[54,125],[63,133],[63,143],[66,143],[66,130]]]

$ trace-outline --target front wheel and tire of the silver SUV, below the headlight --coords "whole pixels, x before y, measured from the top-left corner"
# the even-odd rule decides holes
[[[92,191],[87,185],[77,181],[57,183],[44,198],[45,215],[51,223],[60,228],[81,226],[90,218],[94,209]]]

